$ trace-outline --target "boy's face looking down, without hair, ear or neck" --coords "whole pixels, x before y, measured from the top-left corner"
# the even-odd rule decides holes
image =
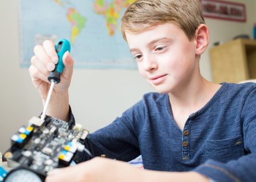
[[[180,92],[199,73],[196,41],[172,23],[142,33],[127,33],[138,70],[157,92]]]

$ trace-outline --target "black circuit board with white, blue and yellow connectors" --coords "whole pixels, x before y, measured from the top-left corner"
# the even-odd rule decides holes
[[[4,154],[17,166],[47,175],[57,167],[69,166],[85,151],[83,141],[88,130],[80,124],[64,122],[50,116],[44,120],[32,117],[11,137],[11,147]]]

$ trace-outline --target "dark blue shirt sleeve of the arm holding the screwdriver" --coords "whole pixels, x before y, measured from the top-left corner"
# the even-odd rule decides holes
[[[138,118],[138,105],[132,106],[108,126],[90,133],[84,143],[86,149],[94,157],[104,155],[110,159],[125,162],[135,159],[140,155],[137,132],[140,122]],[[80,157],[82,161],[89,159],[86,154]]]

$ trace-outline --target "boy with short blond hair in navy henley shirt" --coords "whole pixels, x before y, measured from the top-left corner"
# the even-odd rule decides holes
[[[138,0],[121,23],[140,74],[157,92],[89,135],[85,144],[92,154],[111,159],[53,170],[46,181],[256,181],[256,85],[214,84],[201,76],[208,28],[200,1]],[[29,70],[45,102],[58,59],[50,41],[34,53]],[[47,114],[72,122],[68,52],[64,64]],[[146,170],[119,161],[140,154]]]

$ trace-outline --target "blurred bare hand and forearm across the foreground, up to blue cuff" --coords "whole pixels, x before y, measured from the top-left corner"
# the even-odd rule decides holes
[[[195,172],[160,172],[141,170],[129,165],[103,157],[95,157],[87,162],[82,162],[72,167],[52,170],[48,173],[46,182],[130,182],[130,181],[178,181],[178,182],[203,182],[208,178]]]

